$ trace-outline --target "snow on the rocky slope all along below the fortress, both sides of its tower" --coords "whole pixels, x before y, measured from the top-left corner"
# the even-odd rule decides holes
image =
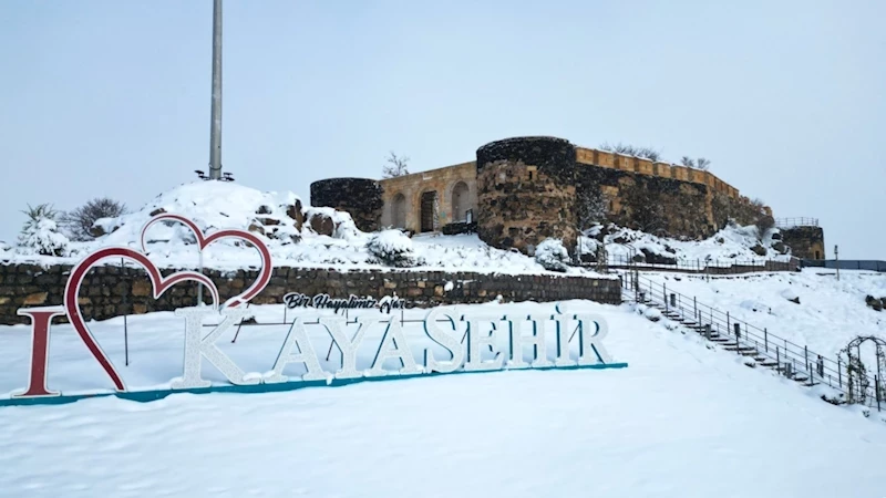
[[[302,205],[292,193],[264,193],[243,185],[220,181],[184,184],[158,195],[132,214],[104,218],[96,222],[105,235],[90,242],[69,242],[63,257],[35,255],[27,247],[0,242],[0,262],[35,262],[40,264],[75,263],[86,253],[107,246],[141,248],[141,230],[152,216],[169,212],[186,216],[207,234],[227,228],[248,229],[261,235],[271,250],[276,266],[336,267],[340,270],[382,268],[367,250],[372,235],[357,229],[351,217],[331,208],[303,207],[303,214],[326,216],[334,228],[330,235],[319,235],[306,222],[301,228],[293,219],[296,206]],[[49,236],[42,234],[42,236]],[[612,257],[626,257],[628,242],[637,250],[677,258],[682,262],[720,260],[773,259],[776,252],[769,248],[767,256],[751,251],[756,245],[755,228],[729,227],[702,241],[660,239],[633,230],[619,229],[607,236],[607,249]],[[199,255],[194,249],[194,237],[181,225],[157,224],[146,234],[146,246],[158,267],[197,268]],[[477,271],[485,273],[538,274],[545,270],[534,258],[516,251],[495,249],[481,241],[476,235],[442,236],[416,235],[412,238],[413,258],[425,270]],[[586,250],[596,243],[585,239]],[[219,241],[204,251],[206,268],[236,270],[258,264],[255,250],[233,241]],[[569,268],[568,273],[583,274],[590,270]]]

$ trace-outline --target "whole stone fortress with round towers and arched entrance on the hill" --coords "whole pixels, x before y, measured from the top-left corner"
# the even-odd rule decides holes
[[[772,217],[710,172],[540,136],[492,142],[468,163],[381,180],[323,179],[310,190],[312,206],[347,211],[363,231],[476,230],[493,247],[528,255],[547,238],[573,251],[593,222],[701,239],[730,219],[752,225]],[[782,235],[794,256],[824,258],[821,228]]]

